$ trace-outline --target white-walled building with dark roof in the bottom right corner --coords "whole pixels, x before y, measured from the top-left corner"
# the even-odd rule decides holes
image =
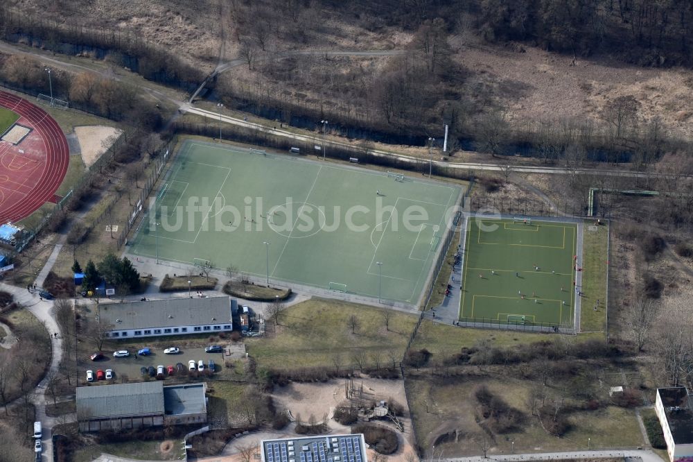
[[[693,457],[693,408],[683,386],[658,388],[655,411],[667,441],[669,459]]]

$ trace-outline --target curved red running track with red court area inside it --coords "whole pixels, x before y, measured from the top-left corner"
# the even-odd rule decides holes
[[[31,130],[16,146],[0,141],[1,224],[24,219],[53,201],[67,173],[70,150],[58,123],[37,105],[0,92],[0,106],[19,114],[15,123]]]

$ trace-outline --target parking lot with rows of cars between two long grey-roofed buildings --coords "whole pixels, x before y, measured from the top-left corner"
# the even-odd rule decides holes
[[[204,347],[197,347],[181,348],[180,354],[164,354],[164,349],[168,348],[168,346],[177,345],[174,344],[161,347],[142,345],[139,348],[132,348],[129,345],[121,345],[117,348],[119,350],[128,350],[130,352],[129,357],[115,358],[113,357],[114,350],[104,350],[103,359],[91,361],[88,357],[80,358],[80,361],[78,361],[79,385],[83,386],[87,384],[87,370],[93,370],[94,374],[96,374],[97,370],[112,369],[114,373],[112,381],[100,382],[121,383],[128,381],[139,382],[145,379],[143,377],[143,374],[141,373],[141,368],[143,367],[149,368],[150,366],[152,366],[156,370],[157,366],[159,365],[164,366],[165,369],[168,366],[173,366],[173,375],[169,377],[168,373],[166,374],[166,381],[173,382],[176,379],[186,379],[188,377],[198,378],[203,377],[205,375],[213,374],[215,371],[209,370],[208,368],[208,363],[210,359],[214,361],[216,371],[219,371],[221,370],[221,368],[224,367],[224,353],[207,353],[204,351]],[[137,352],[137,350],[144,347],[150,348],[151,354],[147,356],[140,356],[138,354],[136,358],[135,353]],[[195,370],[194,372],[188,371],[188,361],[190,361],[191,359],[195,361],[195,364],[197,364],[198,361],[200,361],[200,359],[204,361],[204,371],[202,373],[198,372],[197,370]],[[177,366],[178,363],[180,363],[182,366]],[[147,373],[146,376],[148,377],[147,379],[150,379],[149,373]]]

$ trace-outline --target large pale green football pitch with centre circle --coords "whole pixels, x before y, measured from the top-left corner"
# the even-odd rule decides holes
[[[158,248],[175,262],[232,264],[256,277],[407,304],[419,300],[462,191],[198,141],[182,145],[171,172],[133,255],[154,257]]]

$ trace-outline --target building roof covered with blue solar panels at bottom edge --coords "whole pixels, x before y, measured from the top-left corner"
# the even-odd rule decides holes
[[[263,440],[262,462],[368,462],[363,434]]]

